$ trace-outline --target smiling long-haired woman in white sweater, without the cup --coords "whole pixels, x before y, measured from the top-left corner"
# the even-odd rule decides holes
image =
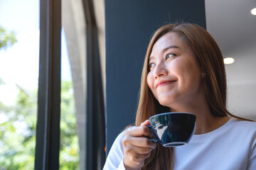
[[[188,145],[148,140],[149,118],[169,111],[196,115]],[[104,169],[256,169],[256,123],[228,112],[223,56],[196,24],[167,24],[154,33],[135,124],[114,141]]]

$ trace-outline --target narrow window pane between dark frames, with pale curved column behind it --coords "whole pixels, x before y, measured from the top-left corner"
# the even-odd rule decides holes
[[[82,1],[61,1],[62,10],[62,103],[61,103],[61,136],[60,140],[69,140],[66,145],[67,150],[64,149],[63,144],[60,142],[60,168],[64,167],[63,162],[68,162],[70,166],[68,169],[86,169],[86,27],[85,27],[85,12],[83,11]],[[64,54],[65,53],[65,54]],[[71,72],[70,72],[71,70]],[[71,78],[66,77],[66,72],[70,72]],[[65,75],[64,75],[65,74]],[[68,78],[68,79],[67,79]],[[67,81],[68,80],[68,81]],[[73,83],[70,86],[69,91],[73,93],[72,108],[68,107],[70,113],[66,113],[65,105],[68,103],[63,103],[64,93],[63,88],[67,84]],[[65,82],[65,83],[64,83]],[[65,85],[65,86],[64,86]],[[71,90],[71,88],[73,88]],[[71,94],[65,93],[69,96]],[[70,103],[71,104],[71,103]],[[73,113],[71,113],[72,111]],[[65,116],[65,118],[64,118]],[[70,117],[70,118],[69,118]],[[70,121],[70,125],[66,121]],[[75,123],[75,125],[74,125]],[[71,125],[72,124],[72,125]],[[66,130],[63,128],[67,126]],[[72,136],[68,137],[67,134]],[[75,132],[78,136],[75,136]],[[72,141],[71,141],[72,140]],[[63,141],[65,142],[65,140]],[[67,154],[69,152],[69,154]],[[69,155],[69,156],[67,156]],[[67,167],[65,167],[67,168]]]

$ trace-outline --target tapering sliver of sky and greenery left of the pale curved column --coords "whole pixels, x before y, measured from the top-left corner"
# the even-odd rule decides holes
[[[61,33],[60,169],[79,169],[75,98],[64,30]]]

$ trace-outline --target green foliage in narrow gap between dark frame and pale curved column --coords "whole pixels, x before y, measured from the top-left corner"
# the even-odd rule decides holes
[[[79,169],[79,145],[76,132],[75,98],[71,81],[61,83],[60,169]]]

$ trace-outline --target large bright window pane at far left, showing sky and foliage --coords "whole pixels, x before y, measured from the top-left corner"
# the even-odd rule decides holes
[[[39,4],[0,2],[0,167],[33,169],[39,59]]]

